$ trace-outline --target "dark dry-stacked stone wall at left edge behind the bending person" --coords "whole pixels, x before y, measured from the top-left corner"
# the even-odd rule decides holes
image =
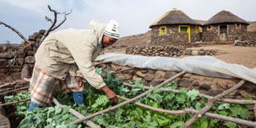
[[[22,67],[33,68],[35,64],[35,52],[39,47],[39,41],[45,30],[41,29],[29,36],[30,43],[21,42],[20,45],[0,46],[0,77],[1,81],[12,81],[20,78]],[[3,68],[17,67],[17,68]],[[10,75],[10,76],[8,76]]]

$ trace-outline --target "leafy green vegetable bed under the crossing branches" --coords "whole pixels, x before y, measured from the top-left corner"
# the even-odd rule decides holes
[[[96,70],[101,74],[101,68]],[[177,74],[175,77],[183,75]],[[254,100],[232,100],[221,99],[227,91],[218,97],[209,97],[199,94],[197,90],[187,91],[185,88],[176,90],[176,82],[168,81],[154,86],[144,86],[141,79],[135,82],[123,83],[122,79],[112,76],[112,72],[101,74],[108,88],[111,88],[118,95],[118,102],[112,103],[106,95],[84,83],[84,104],[76,107],[71,93],[56,93],[55,98],[60,104],[51,105],[42,109],[34,109],[27,112],[29,101],[15,104],[15,112],[20,118],[24,118],[19,126],[27,127],[87,127],[84,124],[71,125],[91,120],[101,127],[170,127],[184,126],[188,120],[195,121],[190,125],[192,128],[206,127],[238,127],[242,125],[256,126],[255,122],[248,121],[248,108],[244,104],[255,104]],[[229,92],[242,86],[244,81],[237,83]],[[130,86],[130,87],[129,87]],[[162,89],[161,88],[164,88]],[[151,87],[151,88],[150,88]],[[149,90],[148,90],[149,89]],[[227,92],[228,93],[228,92]],[[6,96],[6,102],[30,98],[29,92],[20,93],[16,96]],[[135,102],[131,104],[132,102]],[[219,100],[219,101],[216,101]],[[212,106],[209,105],[211,102]],[[238,104],[227,104],[238,103]],[[130,104],[128,104],[130,103]],[[210,108],[207,108],[210,106]],[[84,117],[77,117],[70,114],[70,109],[75,109]],[[205,109],[206,111],[202,111]],[[199,113],[201,113],[199,115]],[[172,114],[172,115],[171,115]],[[193,116],[193,114],[195,116]],[[34,123],[31,124],[30,120]],[[234,123],[235,122],[235,123]],[[189,126],[187,125],[187,126]],[[185,124],[186,127],[186,124]]]

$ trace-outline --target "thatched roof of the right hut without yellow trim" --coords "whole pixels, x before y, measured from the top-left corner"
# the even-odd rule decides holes
[[[223,24],[223,23],[242,23],[248,24],[247,21],[237,17],[237,15],[228,12],[228,11],[221,11],[216,13],[213,17],[211,17],[208,21],[204,23],[204,25],[208,24]]]

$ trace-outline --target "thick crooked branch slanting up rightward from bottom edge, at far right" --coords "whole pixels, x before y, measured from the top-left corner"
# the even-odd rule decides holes
[[[243,83],[245,83],[245,80],[240,81],[239,83],[237,83],[237,85],[235,85],[234,87],[226,90],[223,93],[220,93],[218,95],[216,95],[215,97],[213,97],[212,99],[208,99],[208,103],[207,105],[203,108],[200,109],[199,112],[196,115],[193,115],[193,117],[191,119],[189,119],[184,125],[182,125],[180,128],[188,128],[190,125],[193,124],[193,122],[195,120],[198,120],[199,117],[201,117],[202,115],[204,115],[204,113],[209,110],[213,103],[217,100],[217,99],[221,99],[222,97],[224,97],[225,95],[231,93],[232,91],[236,90],[237,88],[240,88],[242,86]]]

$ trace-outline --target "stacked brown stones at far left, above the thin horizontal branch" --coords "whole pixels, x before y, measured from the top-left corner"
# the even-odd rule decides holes
[[[0,67],[23,67],[24,65],[33,67],[35,51],[44,33],[45,30],[41,29],[39,32],[30,35],[29,44],[21,42],[21,45],[16,46],[10,44],[0,46]]]

